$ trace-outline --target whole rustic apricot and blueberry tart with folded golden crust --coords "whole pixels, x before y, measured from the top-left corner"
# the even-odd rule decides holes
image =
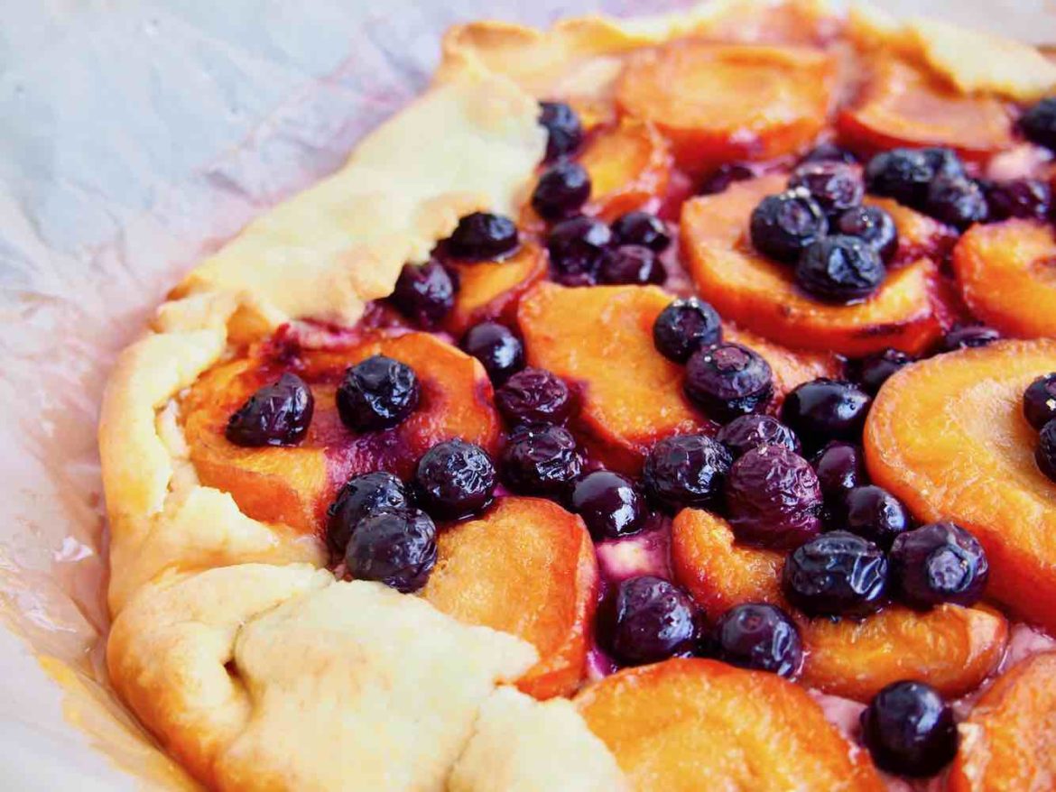
[[[1051,789],[1050,93],[810,0],[452,30],[120,356],[114,687],[218,790]]]

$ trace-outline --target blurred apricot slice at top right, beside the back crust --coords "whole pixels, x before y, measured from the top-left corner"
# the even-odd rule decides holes
[[[898,146],[946,146],[983,158],[1014,144],[1005,106],[966,96],[940,78],[890,56],[878,58],[856,101],[837,127],[850,143],[870,151]]]

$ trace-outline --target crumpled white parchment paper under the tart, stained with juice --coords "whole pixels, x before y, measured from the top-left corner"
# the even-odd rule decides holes
[[[421,90],[448,25],[685,4],[0,2],[0,789],[192,788],[101,655],[98,402],[165,291]],[[880,4],[1056,41],[1041,0]]]

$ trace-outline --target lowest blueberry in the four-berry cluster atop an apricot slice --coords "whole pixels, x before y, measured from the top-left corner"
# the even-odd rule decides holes
[[[871,296],[887,277],[876,249],[857,237],[818,240],[803,252],[795,282],[815,300],[847,305]]]

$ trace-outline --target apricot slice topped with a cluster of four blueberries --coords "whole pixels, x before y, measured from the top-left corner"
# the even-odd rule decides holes
[[[722,316],[797,347],[862,356],[929,346],[941,333],[932,297],[938,268],[930,260],[891,270],[864,302],[828,305],[800,293],[790,267],[751,248],[752,210],[784,185],[780,176],[763,176],[685,203],[680,242],[700,296]]]

